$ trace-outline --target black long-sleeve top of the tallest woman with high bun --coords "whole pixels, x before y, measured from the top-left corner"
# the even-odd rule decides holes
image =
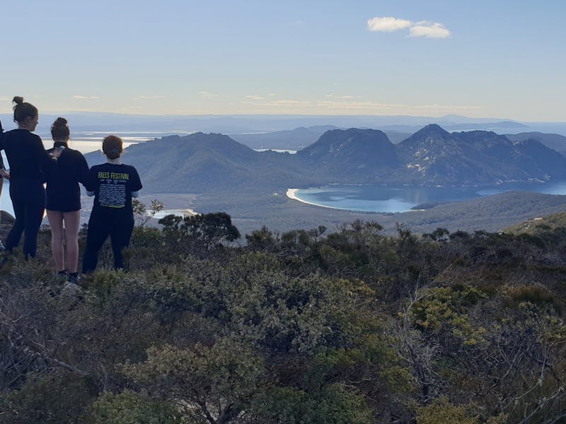
[[[45,181],[45,170],[54,160],[45,151],[40,136],[27,129],[0,132],[0,150],[4,149],[10,164],[10,179]],[[0,156],[1,160],[1,156]],[[4,166],[4,163],[0,162]]]

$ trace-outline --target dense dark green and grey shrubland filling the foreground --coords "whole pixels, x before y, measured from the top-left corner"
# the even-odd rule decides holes
[[[7,257],[1,423],[563,422],[562,225],[355,221],[242,247],[225,213],[161,223],[134,229],[127,273],[105,247],[80,293],[54,281],[48,230],[35,260]]]

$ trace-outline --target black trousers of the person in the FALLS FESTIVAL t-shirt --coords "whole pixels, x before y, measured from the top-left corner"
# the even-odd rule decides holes
[[[93,211],[88,220],[86,233],[86,249],[83,256],[83,273],[90,273],[98,264],[100,247],[110,235],[112,253],[114,254],[114,269],[124,268],[122,250],[129,245],[129,239],[134,230],[134,215],[123,211]],[[119,212],[119,213],[113,213]]]

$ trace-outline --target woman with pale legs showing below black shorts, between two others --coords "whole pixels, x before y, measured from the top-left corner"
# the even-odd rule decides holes
[[[69,283],[78,281],[79,221],[81,218],[81,189],[85,184],[88,164],[81,152],[69,148],[67,119],[57,118],[51,126],[53,148],[47,153],[59,153],[57,165],[50,167],[47,176],[47,219],[51,228],[51,249],[57,276]],[[67,244],[65,268],[63,240]],[[68,274],[67,274],[68,273]]]

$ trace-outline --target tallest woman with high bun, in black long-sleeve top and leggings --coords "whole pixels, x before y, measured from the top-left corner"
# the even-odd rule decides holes
[[[6,250],[11,252],[20,243],[24,233],[25,259],[35,257],[37,232],[45,212],[45,170],[54,165],[57,154],[51,157],[45,151],[39,136],[33,134],[39,113],[37,107],[23,98],[12,100],[13,120],[18,128],[1,134],[0,150],[4,149],[10,165],[10,198],[16,221],[6,239]]]

